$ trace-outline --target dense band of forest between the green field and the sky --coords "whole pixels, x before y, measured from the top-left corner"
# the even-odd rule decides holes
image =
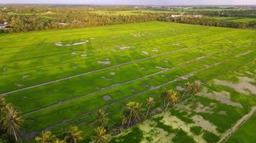
[[[171,21],[184,24],[224,26],[242,29],[255,28],[256,21],[227,21],[225,19],[213,19],[210,16],[255,18],[256,10],[213,9],[216,8],[211,8],[207,11],[205,9],[167,9],[166,7],[152,9],[147,6],[8,5],[0,6],[0,33],[81,28],[144,21]],[[130,11],[131,14],[126,14],[125,12],[116,14],[116,11]],[[104,12],[107,14],[104,14]],[[172,14],[200,14],[202,17],[180,16],[172,18]]]

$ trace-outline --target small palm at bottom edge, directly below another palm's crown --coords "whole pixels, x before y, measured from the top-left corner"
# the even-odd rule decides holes
[[[109,137],[106,135],[106,129],[104,127],[97,127],[95,129],[96,136],[91,137],[92,142],[95,143],[107,143],[109,142]]]

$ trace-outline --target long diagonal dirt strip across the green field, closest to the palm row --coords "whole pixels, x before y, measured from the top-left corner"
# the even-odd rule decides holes
[[[203,69],[198,69],[197,71],[192,71],[191,73],[186,74],[186,75],[181,76],[181,77],[177,77],[176,79],[174,79],[174,80],[172,80],[172,81],[165,82],[164,84],[160,84],[160,85],[158,85],[158,86],[156,86],[156,87],[151,87],[149,90],[147,90],[147,91],[145,91],[145,92],[140,92],[140,93],[134,94],[134,95],[129,96],[129,97],[124,97],[123,99],[119,99],[119,100],[117,100],[116,102],[112,102],[111,104],[106,104],[106,105],[104,105],[104,106],[102,106],[102,107],[99,107],[99,108],[97,108],[97,109],[93,109],[92,111],[87,112],[86,114],[78,115],[77,117],[74,117],[73,119],[65,119],[65,120],[63,120],[62,122],[59,122],[59,123],[57,123],[57,124],[53,124],[52,126],[46,127],[45,129],[43,129],[43,131],[50,130],[50,129],[52,129],[53,127],[58,127],[58,126],[60,126],[60,125],[62,125],[62,124],[65,124],[65,123],[67,123],[67,122],[71,122],[71,121],[73,121],[73,120],[75,120],[75,119],[78,119],[79,117],[88,117],[88,115],[95,113],[95,112],[96,112],[97,110],[99,110],[99,109],[106,109],[106,108],[108,108],[108,107],[113,106],[114,104],[118,104],[118,103],[124,102],[124,101],[126,101],[126,100],[128,100],[128,99],[131,99],[132,97],[140,96],[141,94],[145,94],[145,93],[147,93],[147,92],[151,92],[152,90],[155,90],[155,89],[160,89],[161,87],[164,87],[165,85],[171,84],[171,83],[173,83],[173,82],[178,82],[178,81],[181,81],[181,80],[184,80],[184,79],[188,79],[188,78],[193,77],[194,75],[198,74],[198,72],[204,71],[204,70],[209,69],[209,68],[211,68],[211,67],[213,67],[213,66],[218,66],[219,64],[222,64],[222,63],[224,63],[225,61],[229,61],[229,60],[231,60],[231,59],[235,59],[235,57],[233,56],[233,57],[231,57],[231,58],[225,59],[224,61],[216,62],[215,64],[212,64],[211,66],[206,66],[206,67],[204,67]],[[255,59],[253,59],[252,61],[254,61],[254,60],[255,60]]]

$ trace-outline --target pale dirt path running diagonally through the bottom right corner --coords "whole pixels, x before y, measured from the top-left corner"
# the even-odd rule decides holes
[[[227,130],[227,132],[225,132],[224,134],[221,135],[221,139],[219,139],[218,143],[222,143],[222,142],[226,142],[227,139],[229,139],[229,137],[232,136],[232,134],[234,134],[235,132],[237,132],[237,129],[239,129],[239,127],[242,126],[242,124],[244,124],[245,122],[247,122],[248,119],[250,119],[250,117],[252,117],[252,115],[256,112],[256,106],[252,107],[252,110],[248,113],[245,114],[244,117],[242,117],[241,119],[239,119],[239,121],[234,124],[234,126],[230,129]]]

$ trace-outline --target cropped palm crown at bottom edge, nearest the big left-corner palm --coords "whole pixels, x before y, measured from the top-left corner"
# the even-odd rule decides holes
[[[52,135],[52,132],[42,132],[41,137],[36,137],[35,140],[38,143],[55,143],[57,142],[57,138],[55,135]],[[59,141],[58,141],[59,142]]]

